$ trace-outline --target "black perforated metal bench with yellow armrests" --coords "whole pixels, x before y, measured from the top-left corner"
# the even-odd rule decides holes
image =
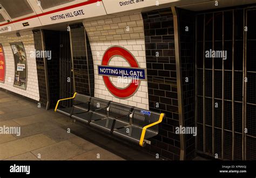
[[[59,102],[65,100],[60,99],[55,111],[140,146],[150,144],[147,139],[157,136],[158,124],[165,117],[164,113],[142,110],[76,93],[72,98],[66,99],[74,99],[73,106],[58,109]]]

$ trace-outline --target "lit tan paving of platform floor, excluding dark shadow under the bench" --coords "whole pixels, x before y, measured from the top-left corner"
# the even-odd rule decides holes
[[[63,127],[75,124],[0,90],[0,127],[21,127],[21,136],[0,134],[0,160],[124,160]]]

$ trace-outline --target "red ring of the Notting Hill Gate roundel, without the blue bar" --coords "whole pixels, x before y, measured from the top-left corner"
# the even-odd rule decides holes
[[[109,65],[109,61],[111,60],[111,58],[113,58],[113,56],[122,56],[127,62],[129,62],[131,67],[136,67],[136,68],[139,67],[137,61],[134,59],[133,55],[129,51],[127,51],[122,47],[117,47],[117,46],[107,49],[107,51],[103,56],[102,65],[103,66]],[[127,98],[133,95],[134,92],[136,92],[136,90],[139,87],[139,85],[136,85],[136,83],[138,83],[139,81],[136,79],[133,79],[132,82],[129,84],[129,86],[124,89],[120,89],[120,88],[117,88],[116,86],[113,86],[113,84],[109,79],[109,76],[103,76],[103,80],[105,82],[107,89],[109,89],[111,94],[119,98]]]

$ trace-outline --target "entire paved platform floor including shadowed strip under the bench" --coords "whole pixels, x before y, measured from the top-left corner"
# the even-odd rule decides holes
[[[21,135],[0,134],[0,160],[156,160],[134,145],[0,90],[0,127],[4,126],[21,127]]]

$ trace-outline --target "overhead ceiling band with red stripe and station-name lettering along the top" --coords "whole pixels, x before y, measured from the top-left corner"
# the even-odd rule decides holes
[[[256,0],[134,0],[143,3],[119,5],[130,0],[0,0],[0,33],[26,30],[47,25],[66,25],[82,20],[102,18],[105,15],[124,15],[125,13],[145,12],[154,9],[177,6],[192,11],[225,8],[243,4],[255,4]],[[159,2],[159,5],[156,5]],[[98,8],[96,4],[98,5]],[[83,10],[83,16],[57,16]],[[55,19],[52,19],[55,18]],[[57,25],[58,24],[58,25]]]

